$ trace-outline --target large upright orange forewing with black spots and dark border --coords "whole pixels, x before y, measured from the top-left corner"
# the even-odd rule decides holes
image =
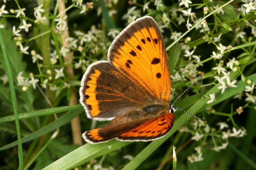
[[[168,62],[160,29],[153,18],[142,17],[127,26],[111,44],[108,58],[135,84],[140,84],[145,93],[168,102]]]

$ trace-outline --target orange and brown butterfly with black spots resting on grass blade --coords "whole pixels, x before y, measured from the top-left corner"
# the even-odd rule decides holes
[[[151,141],[164,137],[178,109],[168,100],[171,79],[156,21],[145,16],[129,24],[108,49],[108,61],[84,73],[80,103],[87,117],[108,125],[84,132],[86,142]]]

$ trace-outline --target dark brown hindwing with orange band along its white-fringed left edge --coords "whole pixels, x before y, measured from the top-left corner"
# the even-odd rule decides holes
[[[151,96],[109,62],[92,64],[83,80],[80,102],[88,117],[96,120],[111,120],[119,114],[143,108],[146,100],[150,102]]]

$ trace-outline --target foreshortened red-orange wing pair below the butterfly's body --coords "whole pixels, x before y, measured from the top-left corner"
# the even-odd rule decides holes
[[[116,138],[121,141],[151,141],[168,133],[174,122],[173,113],[145,118],[124,124],[109,124],[106,127],[86,131],[84,140],[89,143],[107,142]]]

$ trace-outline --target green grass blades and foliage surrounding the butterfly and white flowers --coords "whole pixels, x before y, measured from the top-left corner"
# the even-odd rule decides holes
[[[163,37],[165,47],[168,47],[167,55],[170,57],[169,68],[172,75],[174,75],[173,70],[182,74],[180,68],[193,63],[193,58],[188,59],[183,56],[184,49],[181,49],[180,55],[179,43],[169,49],[169,45],[173,42],[170,40],[171,33],[175,31],[184,33],[188,30],[185,23],[179,26],[172,16],[172,9],[181,8],[179,2],[163,1],[164,7],[158,8],[154,5],[154,1],[151,1],[149,9],[145,12],[142,12],[143,5],[148,1],[125,0],[114,3],[112,1],[99,0],[93,2],[93,8],[88,9],[85,15],[79,15],[81,9],[77,8],[74,5],[75,3],[72,4],[71,1],[66,3],[66,8],[73,5],[72,8],[67,10],[70,37],[75,36],[74,31],[76,30],[87,33],[92,25],[102,30],[102,34],[105,37],[102,41],[105,48],[100,48],[96,54],[90,52],[90,43],[84,46],[86,49],[83,52],[84,54],[77,51],[73,52],[75,56],[73,65],[81,58],[86,60],[86,63],[83,63],[85,67],[97,60],[106,60],[107,49],[111,41],[113,41],[113,37],[108,36],[107,33],[111,28],[121,31],[127,26],[127,20],[122,19],[122,17],[133,6],[137,6],[141,16],[152,16],[158,23],[162,23],[163,11],[170,18],[171,22],[167,28],[164,28]],[[216,6],[217,4],[221,6],[227,2],[193,1],[190,7],[193,8],[193,12],[199,13],[198,15],[201,12],[201,16],[196,15],[198,18],[205,16],[202,13],[204,6]],[[47,8],[45,11],[48,11],[49,22],[51,24],[54,23],[53,19],[56,18],[59,1],[39,1],[38,3],[44,3],[45,8]],[[3,4],[1,2],[0,6]],[[18,9],[17,4],[21,8],[26,8],[26,19],[33,24],[35,19],[33,8],[38,5],[31,3],[31,1],[7,1],[5,10]],[[245,85],[248,85],[247,80],[256,83],[256,67],[254,65],[256,61],[256,43],[255,36],[251,34],[251,28],[255,29],[254,20],[256,15],[255,11],[243,15],[238,10],[241,4],[244,4],[244,2],[233,1],[223,8],[225,14],[215,13],[208,17],[207,23],[209,23],[211,30],[214,31],[200,33],[198,30],[193,29],[179,41],[192,49],[196,46],[194,54],[201,55],[201,63],[193,63],[191,68],[204,64],[204,66],[199,66],[196,69],[196,73],[204,73],[204,75],[175,105],[207,120],[207,124],[211,128],[209,133],[204,133],[204,137],[199,141],[191,141],[191,137],[195,135],[195,131],[193,131],[195,118],[177,111],[175,112],[175,123],[172,130],[161,139],[152,142],[120,142],[114,139],[107,143],[95,145],[84,143],[81,147],[73,144],[70,122],[79,115],[81,129],[86,131],[91,128],[92,120],[86,117],[80,104],[68,106],[71,95],[70,89],[61,90],[60,88],[57,90],[58,95],[53,96],[53,108],[49,108],[38,88],[34,90],[30,86],[26,91],[23,91],[22,86],[17,85],[16,77],[21,71],[26,76],[30,72],[40,76],[44,75],[44,73],[40,74],[36,63],[32,63],[31,55],[23,55],[18,51],[17,40],[13,40],[12,36],[12,26],[16,25],[17,28],[20,24],[19,19],[12,14],[5,15],[5,17],[2,16],[1,24],[5,25],[5,28],[0,29],[0,76],[7,75],[10,82],[5,85],[0,84],[0,169],[72,169],[75,167],[78,167],[78,169],[93,169],[95,164],[100,164],[108,169],[111,169],[110,166],[114,169],[156,169],[160,165],[163,165],[162,169],[171,169],[172,161],[167,161],[166,164],[164,161],[169,158],[172,159],[173,145],[176,147],[178,169],[256,169],[256,107],[254,103],[245,101],[246,96],[244,94]],[[109,16],[108,11],[113,9],[117,11],[116,14]],[[102,12],[98,16],[97,12],[99,10],[102,10]],[[43,53],[44,48],[51,51],[57,49],[57,53],[60,54],[60,46],[62,44],[60,34],[56,33],[54,24],[51,26],[46,27],[43,24],[34,23],[28,33],[23,33],[23,44],[25,42],[30,46],[30,50],[34,49],[39,54]],[[38,27],[41,28],[39,33]],[[244,39],[237,41],[235,29],[238,27],[246,34]],[[46,29],[46,37],[41,34],[43,33],[42,28]],[[224,63],[223,67],[233,57],[240,63],[237,66],[238,70],[231,71],[230,74],[231,79],[237,79],[237,87],[227,88],[223,94],[218,89],[220,83],[213,78],[217,75],[217,72],[213,71],[212,68],[220,63],[220,60],[214,60],[210,56],[212,51],[217,51],[216,46],[205,41],[207,39],[205,35],[217,37],[220,33],[222,33],[221,43],[225,46],[230,44],[234,47],[225,51],[221,59]],[[44,41],[39,41],[40,39],[36,36],[43,37],[42,40],[48,43],[45,44]],[[186,41],[186,37],[190,37],[191,41]],[[50,43],[50,40],[55,42],[53,43],[54,45]],[[51,66],[51,69],[59,69],[64,65],[60,59],[58,65]],[[48,67],[43,64],[42,68],[46,70]],[[75,76],[71,81],[68,82],[64,78],[62,84],[58,82],[58,85],[61,87],[67,81],[78,94],[82,75],[83,70],[81,68],[75,69]],[[43,78],[42,76],[39,79],[42,80]],[[172,95],[174,95],[174,98],[178,97],[194,81],[195,77],[186,77],[186,79],[186,81],[172,82]],[[207,96],[212,92],[216,94],[215,101],[206,104],[209,100]],[[233,99],[239,93],[242,94],[241,99]],[[255,90],[252,95],[255,97]],[[241,115],[238,115],[236,111],[239,106],[243,107]],[[57,114],[58,119],[55,120],[53,114]],[[240,138],[230,137],[227,148],[216,152],[212,148],[216,144],[218,146],[222,144],[221,130],[216,125],[219,122],[227,122],[229,127],[235,127],[236,129],[243,126],[247,130],[247,135]],[[97,122],[97,126],[101,124],[104,124],[104,122]],[[190,128],[192,132],[184,133],[178,131],[181,126]],[[51,138],[57,128],[60,128],[58,136]],[[187,157],[195,153],[194,148],[196,146],[202,147],[203,160],[191,163]],[[123,159],[125,155],[132,155],[134,159],[131,161]],[[97,163],[92,161],[94,159],[97,160]]]

